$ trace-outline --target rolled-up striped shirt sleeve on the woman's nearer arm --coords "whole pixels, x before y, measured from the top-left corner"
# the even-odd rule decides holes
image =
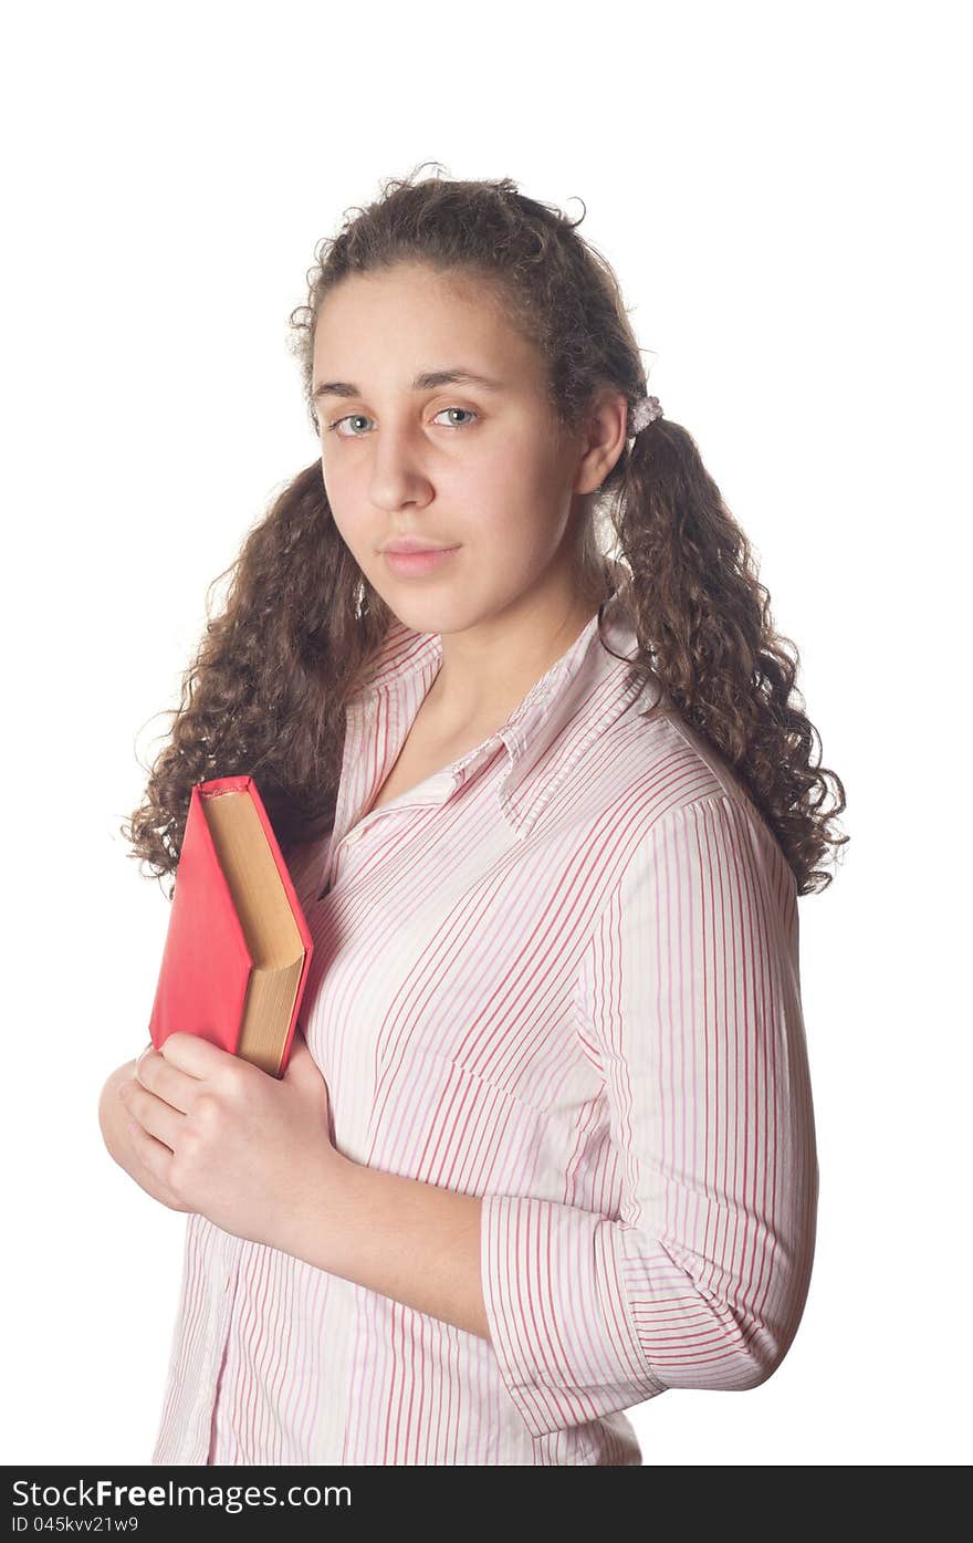
[[[481,1211],[490,1338],[537,1437],[668,1387],[757,1387],[803,1315],[819,1174],[797,892],[749,804],[709,795],[638,839],[577,1011],[611,1214],[530,1194]]]

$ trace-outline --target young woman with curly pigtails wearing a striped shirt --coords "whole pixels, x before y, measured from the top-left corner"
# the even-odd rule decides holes
[[[126,830],[171,875],[254,775],[315,940],[282,1079],[174,1034],[102,1097],[188,1213],[153,1461],[638,1464],[626,1409],[756,1387],[803,1313],[843,788],[563,214],[389,182],[291,322],[319,457]]]

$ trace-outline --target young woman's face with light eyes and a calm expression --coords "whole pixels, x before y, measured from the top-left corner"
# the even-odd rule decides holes
[[[338,529],[390,609],[463,631],[546,594],[577,597],[580,495],[603,458],[567,438],[535,349],[470,279],[421,265],[350,275],[315,329],[324,485]],[[421,381],[464,370],[476,381]],[[396,539],[436,555],[395,563]]]

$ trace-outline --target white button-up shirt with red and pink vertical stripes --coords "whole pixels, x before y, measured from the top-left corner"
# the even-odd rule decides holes
[[[612,653],[594,616],[495,734],[362,815],[443,657],[396,622],[291,861],[335,1145],[481,1197],[490,1341],[191,1214],[153,1463],[640,1464],[626,1409],[786,1353],[817,1214],[797,886],[629,682],[618,606]]]

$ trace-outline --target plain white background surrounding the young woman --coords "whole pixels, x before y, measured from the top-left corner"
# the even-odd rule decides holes
[[[102,1145],[168,907],[120,822],[207,586],[316,458],[287,350],[384,176],[510,176],[615,267],[751,537],[851,836],[800,901],[819,1239],[646,1466],[970,1458],[965,6],[46,5],[6,23],[5,1463],[145,1463],[185,1217]],[[964,143],[965,142],[965,143]]]

